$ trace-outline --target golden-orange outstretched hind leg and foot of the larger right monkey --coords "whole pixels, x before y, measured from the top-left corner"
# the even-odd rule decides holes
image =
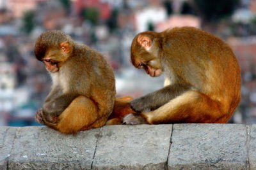
[[[221,106],[216,101],[212,101],[208,96],[200,92],[189,90],[184,94],[175,97],[170,102],[160,108],[147,113],[141,113],[148,124],[168,124],[168,123],[225,123],[231,114],[224,114]],[[131,115],[132,116],[132,115]],[[124,122],[134,122],[135,117],[127,117]],[[140,122],[138,122],[140,124]]]

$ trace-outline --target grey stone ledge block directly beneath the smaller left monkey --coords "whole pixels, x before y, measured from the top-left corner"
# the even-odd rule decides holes
[[[90,169],[100,129],[65,135],[48,127],[18,129],[9,169]]]

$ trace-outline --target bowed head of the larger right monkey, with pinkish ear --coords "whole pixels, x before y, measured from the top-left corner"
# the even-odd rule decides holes
[[[159,33],[141,32],[132,40],[131,61],[134,67],[145,69],[150,76],[160,76],[162,67],[159,54]]]

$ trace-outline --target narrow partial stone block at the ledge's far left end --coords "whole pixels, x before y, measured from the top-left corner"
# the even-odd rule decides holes
[[[0,169],[8,169],[8,157],[16,136],[15,127],[1,127],[0,130]]]

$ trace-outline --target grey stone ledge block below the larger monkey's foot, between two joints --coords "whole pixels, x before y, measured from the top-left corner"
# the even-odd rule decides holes
[[[172,125],[102,128],[93,169],[166,169]]]

